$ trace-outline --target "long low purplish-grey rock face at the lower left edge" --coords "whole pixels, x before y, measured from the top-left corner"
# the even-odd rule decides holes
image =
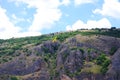
[[[39,71],[45,67],[45,63],[42,59],[38,59],[27,66],[25,61],[14,61],[4,64],[0,67],[0,74],[11,74],[11,75],[25,75]]]

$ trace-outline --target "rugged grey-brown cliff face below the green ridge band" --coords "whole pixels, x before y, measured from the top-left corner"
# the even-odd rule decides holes
[[[0,64],[0,80],[120,79],[119,38],[77,35],[64,42],[44,41],[14,55],[18,53]]]

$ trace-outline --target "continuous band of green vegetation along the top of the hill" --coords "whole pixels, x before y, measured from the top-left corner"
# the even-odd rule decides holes
[[[25,37],[25,38],[11,38],[8,40],[0,40],[0,44],[2,45],[0,47],[0,54],[8,53],[4,50],[6,49],[12,49],[13,51],[10,51],[10,54],[15,50],[20,50],[22,47],[26,44],[34,44],[38,45],[42,43],[43,41],[47,40],[59,40],[63,42],[66,38],[73,37],[77,34],[81,34],[83,36],[89,36],[89,35],[107,35],[107,36],[113,36],[113,37],[120,37],[120,30],[88,30],[88,31],[71,31],[71,32],[63,32],[63,33],[56,33],[54,35],[41,35],[36,37]],[[4,44],[2,44],[4,42]]]

